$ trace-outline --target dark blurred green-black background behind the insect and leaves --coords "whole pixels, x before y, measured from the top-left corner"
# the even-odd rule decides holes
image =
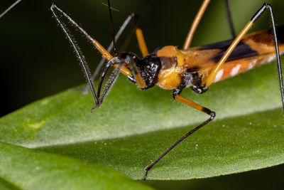
[[[94,38],[107,48],[111,42],[109,14],[106,0],[23,0],[0,19],[0,116],[20,107],[54,95],[67,88],[84,83],[79,63],[65,39],[60,27],[53,19],[50,5],[55,2],[80,23]],[[182,47],[201,4],[200,1],[154,0],[143,16],[141,26],[150,52],[155,48],[173,45]],[[236,33],[251,19],[262,6],[263,0],[229,1]],[[273,6],[275,23],[284,25],[284,1],[268,1]],[[1,0],[0,12],[13,3]],[[116,31],[124,19],[132,12],[139,13],[145,1],[111,1],[114,28]],[[121,46],[131,32],[131,26],[121,36]],[[261,16],[251,31],[267,29],[271,26],[268,12]],[[71,28],[71,31],[72,30]],[[280,34],[281,35],[281,34]],[[284,34],[282,34],[284,35]],[[84,38],[74,31],[91,70],[96,68],[100,56]],[[192,46],[224,41],[231,38],[224,12],[224,0],[214,0],[197,28]],[[141,56],[135,38],[131,38],[126,51]],[[190,181],[148,181],[158,189],[284,189],[283,165],[249,171],[242,174],[219,176],[210,179]]]

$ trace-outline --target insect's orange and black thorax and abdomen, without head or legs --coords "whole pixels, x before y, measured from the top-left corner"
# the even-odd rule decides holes
[[[278,28],[284,32],[284,27]],[[281,32],[282,31],[282,32]],[[280,54],[284,53],[283,37],[278,38]],[[155,51],[152,56],[160,59],[160,70],[156,85],[166,90],[178,88],[182,75],[192,75],[187,87],[204,85],[209,73],[217,65],[233,40],[212,43],[207,46],[179,50],[175,46],[165,46]],[[258,65],[270,63],[275,59],[275,46],[271,33],[260,31],[251,33],[241,40],[214,78],[214,83],[244,73]]]

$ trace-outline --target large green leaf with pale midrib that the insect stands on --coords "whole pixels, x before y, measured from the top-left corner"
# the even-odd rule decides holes
[[[149,171],[148,179],[192,179],[284,162],[284,127],[273,65],[182,95],[217,112]],[[170,91],[138,90],[121,76],[102,108],[75,89],[0,119],[0,141],[104,164],[133,179],[170,144],[208,118],[175,102]]]

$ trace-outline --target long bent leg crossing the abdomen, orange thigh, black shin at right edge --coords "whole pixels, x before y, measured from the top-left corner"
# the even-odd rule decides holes
[[[279,48],[278,48],[278,38],[275,30],[275,23],[274,23],[274,17],[273,17],[273,11],[272,6],[268,3],[263,4],[261,6],[261,9],[256,11],[256,14],[253,15],[251,18],[251,21],[246,24],[246,26],[243,28],[241,33],[239,33],[238,36],[234,39],[234,41],[231,43],[231,46],[226,50],[222,58],[217,63],[216,67],[212,70],[212,72],[209,74],[209,76],[206,78],[204,87],[209,87],[214,81],[214,78],[216,77],[218,71],[222,68],[222,65],[225,63],[226,59],[230,56],[231,52],[234,50],[236,45],[241,41],[241,38],[244,37],[244,35],[249,31],[249,28],[253,26],[253,23],[263,14],[264,11],[268,9],[270,11],[271,16],[271,23],[273,28],[273,36],[274,36],[274,43],[275,43],[275,53],[276,53],[276,59],[277,59],[277,66],[278,66],[278,76],[279,76],[279,83],[280,83],[280,91],[281,91],[281,97],[282,97],[282,103],[283,103],[283,110],[284,110],[284,90],[283,90],[283,79],[282,79],[282,70],[281,70],[281,63],[280,63],[280,54],[279,54]]]

